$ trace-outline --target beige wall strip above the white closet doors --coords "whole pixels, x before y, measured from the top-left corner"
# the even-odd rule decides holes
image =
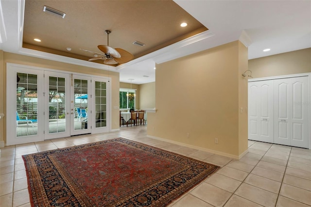
[[[248,61],[253,78],[311,72],[311,48]]]

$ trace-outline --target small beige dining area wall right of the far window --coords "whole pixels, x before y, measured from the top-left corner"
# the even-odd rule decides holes
[[[155,82],[139,85],[140,109],[155,108]]]

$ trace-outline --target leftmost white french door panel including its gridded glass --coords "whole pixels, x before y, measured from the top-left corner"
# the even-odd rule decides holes
[[[7,63],[6,145],[43,141],[43,70]]]

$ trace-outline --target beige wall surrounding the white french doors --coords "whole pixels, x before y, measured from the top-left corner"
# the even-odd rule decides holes
[[[0,52],[2,54],[2,51]],[[3,61],[2,61],[3,59]],[[77,72],[77,73],[84,73],[84,74],[90,74],[90,75],[97,75],[97,76],[105,76],[111,78],[111,117],[112,117],[112,129],[118,129],[119,128],[119,110],[113,109],[113,106],[117,104],[119,106],[119,86],[120,86],[120,75],[118,72],[112,72],[102,69],[93,69],[88,68],[84,66],[77,66],[73,64],[68,63],[62,63],[52,60],[46,60],[36,57],[30,57],[20,54],[14,54],[10,52],[3,52],[3,55],[0,58],[3,64],[1,64],[0,67],[0,98],[1,98],[1,104],[0,104],[0,113],[6,113],[6,63],[15,63],[15,64],[21,64],[21,65],[27,65],[27,66],[35,66],[35,67],[41,67],[41,68],[47,68],[47,69],[57,69],[57,70],[64,70],[64,71],[71,71],[71,72]],[[5,118],[0,121],[0,134],[3,135],[4,141],[6,140],[6,121]],[[3,129],[3,130],[2,130]],[[3,131],[3,134],[2,134]]]

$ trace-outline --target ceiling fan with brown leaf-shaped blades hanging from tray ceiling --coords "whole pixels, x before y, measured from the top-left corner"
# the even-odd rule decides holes
[[[120,63],[126,63],[134,58],[134,55],[130,52],[127,52],[121,48],[115,48],[109,47],[109,34],[111,33],[110,30],[105,30],[105,33],[107,34],[107,45],[98,45],[98,49],[100,49],[104,54],[98,53],[98,52],[92,52],[85,49],[80,49],[86,52],[91,52],[95,55],[97,55],[94,58],[89,59],[88,61],[92,60],[99,60],[104,59],[104,64],[108,65],[115,65]],[[98,57],[98,55],[101,55]]]

